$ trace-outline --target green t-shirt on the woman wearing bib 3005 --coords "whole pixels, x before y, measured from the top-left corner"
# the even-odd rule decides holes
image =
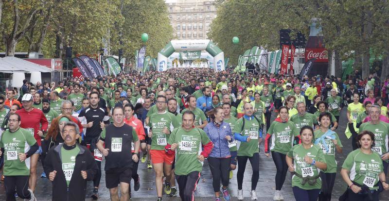
[[[350,180],[356,184],[366,184],[371,190],[378,189],[378,174],[383,172],[381,156],[371,151],[371,154],[365,154],[361,149],[357,149],[347,155],[342,168],[350,171]]]

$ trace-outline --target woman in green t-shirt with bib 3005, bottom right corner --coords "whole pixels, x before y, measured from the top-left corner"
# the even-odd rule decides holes
[[[356,140],[359,149],[347,155],[340,171],[348,185],[343,196],[346,196],[346,201],[365,201],[369,200],[369,196],[373,201],[378,201],[378,183],[381,182],[386,190],[389,189],[389,185],[385,180],[381,156],[371,151],[371,147],[374,146],[374,134],[362,131]]]

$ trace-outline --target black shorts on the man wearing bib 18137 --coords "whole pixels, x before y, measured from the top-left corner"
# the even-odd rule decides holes
[[[115,188],[121,182],[130,184],[132,168],[111,168],[106,171],[106,187]]]

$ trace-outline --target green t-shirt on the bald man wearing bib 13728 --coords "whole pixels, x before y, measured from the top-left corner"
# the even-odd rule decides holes
[[[250,137],[249,142],[241,142],[238,149],[238,156],[249,156],[252,157],[254,153],[259,152],[259,129],[261,128],[261,121],[258,122],[257,119],[251,117],[250,120],[245,119],[245,126],[243,127],[243,118],[239,118],[236,121],[234,130],[232,133],[238,133],[243,136]]]

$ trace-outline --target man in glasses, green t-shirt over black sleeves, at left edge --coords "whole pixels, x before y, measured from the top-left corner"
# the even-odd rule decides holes
[[[28,189],[30,156],[38,150],[38,144],[30,131],[20,128],[20,117],[10,115],[9,129],[0,138],[0,156],[4,154],[3,175],[7,198],[14,198],[15,190],[21,199],[36,200],[33,191]],[[21,189],[21,190],[20,190]]]

